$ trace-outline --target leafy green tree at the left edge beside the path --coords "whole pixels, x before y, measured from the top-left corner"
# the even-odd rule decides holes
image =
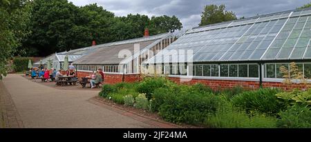
[[[0,79],[7,73],[7,63],[21,39],[28,34],[29,7],[26,0],[0,0]]]

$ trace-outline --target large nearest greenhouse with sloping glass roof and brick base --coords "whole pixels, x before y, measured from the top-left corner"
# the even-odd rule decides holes
[[[310,8],[277,12],[192,28],[144,65],[192,83],[278,86],[291,62],[311,77],[310,38]]]

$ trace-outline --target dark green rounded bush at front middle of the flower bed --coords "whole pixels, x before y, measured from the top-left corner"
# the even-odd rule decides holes
[[[173,123],[200,124],[209,113],[218,108],[220,99],[214,94],[198,94],[193,92],[169,93],[164,103],[160,105],[159,114],[165,120]]]

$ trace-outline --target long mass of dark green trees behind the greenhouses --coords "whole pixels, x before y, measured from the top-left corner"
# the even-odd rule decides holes
[[[180,30],[182,23],[175,16],[147,17],[129,14],[115,17],[96,3],[77,7],[67,0],[33,0],[30,31],[20,47],[24,56],[47,56],[54,52],[91,45]]]

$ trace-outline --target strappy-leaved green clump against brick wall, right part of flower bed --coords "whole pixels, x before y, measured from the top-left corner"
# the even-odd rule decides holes
[[[278,92],[280,91],[270,88],[247,91],[232,97],[232,103],[234,106],[246,110],[249,114],[262,112],[276,115],[281,110],[286,109],[285,103],[276,98]]]

